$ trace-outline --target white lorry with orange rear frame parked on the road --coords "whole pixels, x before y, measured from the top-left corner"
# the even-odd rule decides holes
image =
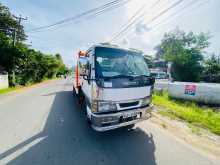
[[[141,52],[97,44],[78,54],[73,90],[99,132],[150,118],[155,79]]]

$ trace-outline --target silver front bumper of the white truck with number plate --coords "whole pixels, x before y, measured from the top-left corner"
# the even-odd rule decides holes
[[[150,118],[153,105],[145,108],[120,111],[110,114],[91,114],[91,126],[98,132],[104,132]]]

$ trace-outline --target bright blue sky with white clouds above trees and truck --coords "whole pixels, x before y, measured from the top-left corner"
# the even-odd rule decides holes
[[[120,8],[95,18],[86,17],[81,21],[68,22],[41,32],[29,31],[110,1],[112,0],[1,0],[1,3],[9,7],[14,15],[27,17],[22,22],[28,35],[27,44],[47,54],[60,53],[68,66],[75,63],[79,50],[87,50],[93,44],[111,40],[139,9],[144,13],[142,19],[115,40],[115,44],[141,49],[146,54],[153,55],[154,47],[160,43],[164,33],[178,27],[186,32],[209,32],[212,38],[207,52],[220,53],[220,0],[183,0],[154,21],[151,21],[152,18],[180,0],[130,0]]]

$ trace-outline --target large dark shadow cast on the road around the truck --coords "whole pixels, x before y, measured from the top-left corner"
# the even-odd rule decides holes
[[[9,164],[156,164],[152,135],[139,128],[93,131],[72,91],[56,93],[44,130],[0,154],[0,160],[41,137],[44,138]]]

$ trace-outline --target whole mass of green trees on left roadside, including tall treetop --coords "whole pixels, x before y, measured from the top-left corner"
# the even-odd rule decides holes
[[[17,29],[16,38],[19,41],[25,40],[24,29],[1,3],[0,25],[0,66],[9,73],[10,86],[32,84],[69,72],[60,54],[46,55],[22,42],[13,44],[14,29]]]

